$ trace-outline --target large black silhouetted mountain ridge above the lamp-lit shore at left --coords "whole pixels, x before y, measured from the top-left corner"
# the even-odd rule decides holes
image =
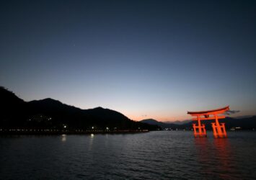
[[[135,122],[120,112],[102,107],[80,109],[50,98],[25,102],[4,87],[0,87],[0,99],[1,128],[159,129],[156,125]]]

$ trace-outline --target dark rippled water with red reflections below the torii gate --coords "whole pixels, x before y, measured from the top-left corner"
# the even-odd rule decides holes
[[[0,136],[0,179],[256,179],[256,132]]]

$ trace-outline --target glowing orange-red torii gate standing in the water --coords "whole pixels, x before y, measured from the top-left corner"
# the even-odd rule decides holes
[[[187,112],[187,114],[196,117],[193,118],[193,120],[198,121],[198,125],[193,124],[195,138],[206,137],[206,127],[205,125],[201,125],[200,120],[215,120],[215,122],[211,123],[211,126],[213,127],[214,138],[226,138],[225,123],[219,123],[219,119],[224,119],[225,116],[218,116],[218,114],[223,114],[228,110],[229,106],[202,112]]]

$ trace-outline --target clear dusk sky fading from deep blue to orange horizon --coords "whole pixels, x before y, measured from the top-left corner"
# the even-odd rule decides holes
[[[256,1],[0,1],[0,85],[132,120],[256,114]]]

